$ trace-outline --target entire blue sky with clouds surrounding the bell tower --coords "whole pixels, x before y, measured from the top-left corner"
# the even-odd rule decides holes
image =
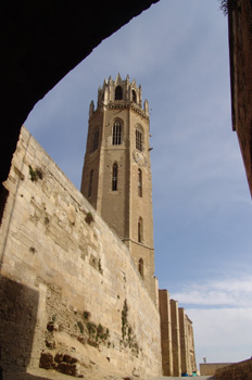
[[[231,129],[227,17],[161,0],[104,40],[25,126],[79,189],[88,109],[117,73],[151,110],[155,275],[193,321],[198,363],[252,355],[252,210]]]

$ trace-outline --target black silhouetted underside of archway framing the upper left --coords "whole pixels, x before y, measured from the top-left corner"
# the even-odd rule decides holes
[[[104,38],[158,1],[1,2],[0,183],[34,105]]]

